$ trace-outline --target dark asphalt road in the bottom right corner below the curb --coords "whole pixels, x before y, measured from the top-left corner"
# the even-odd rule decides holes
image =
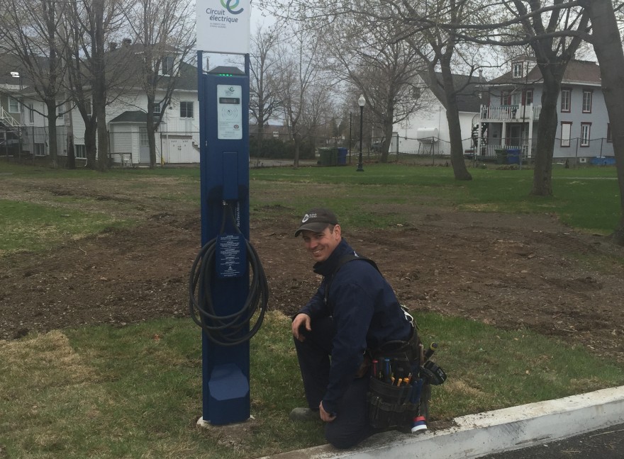
[[[624,459],[624,424],[481,459]]]

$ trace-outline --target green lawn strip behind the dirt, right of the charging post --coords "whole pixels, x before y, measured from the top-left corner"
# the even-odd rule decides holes
[[[283,205],[284,198],[291,196],[289,202],[298,212],[304,212],[311,197],[299,196],[297,184],[327,184],[333,192],[323,196],[323,200],[355,227],[386,226],[379,215],[363,221],[357,219],[357,215],[370,216],[367,212],[370,203],[414,200],[457,210],[557,215],[567,225],[598,234],[613,232],[620,219],[618,181],[612,167],[554,169],[552,197],[529,196],[533,184],[530,169],[470,169],[470,173],[472,181],[456,181],[449,167],[400,164],[367,164],[363,173],[350,166],[257,169],[251,174],[251,188],[252,193],[254,189],[260,191],[258,196],[262,196],[260,199],[265,204],[265,200],[270,202],[267,190],[277,181],[280,192],[272,204]]]

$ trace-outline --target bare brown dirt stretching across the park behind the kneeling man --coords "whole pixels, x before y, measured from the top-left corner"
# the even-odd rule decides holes
[[[168,183],[160,183],[167,186]],[[4,193],[6,190],[0,191]],[[45,201],[64,183],[12,181],[11,196]],[[187,282],[199,250],[199,210],[123,193],[112,181],[83,181],[80,193],[113,201],[140,217],[138,227],[108,229],[43,254],[0,259],[0,339],[84,324],[123,326],[185,317]],[[4,196],[7,196],[6,194]],[[549,215],[450,212],[424,205],[379,208],[403,219],[347,240],[375,261],[411,309],[529,327],[624,362],[624,249],[580,234]],[[299,215],[263,208],[251,234],[267,272],[270,307],[295,312],[318,278],[300,239]]]

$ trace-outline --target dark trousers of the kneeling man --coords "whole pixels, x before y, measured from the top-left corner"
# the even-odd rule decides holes
[[[318,410],[329,381],[335,327],[331,317],[313,320],[305,341],[295,341],[308,407]],[[338,404],[338,416],[325,424],[325,439],[336,448],[350,448],[374,433],[368,421],[369,375],[354,378]]]

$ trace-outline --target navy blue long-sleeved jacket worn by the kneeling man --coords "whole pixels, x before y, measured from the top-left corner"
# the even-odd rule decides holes
[[[367,348],[375,350],[395,339],[407,340],[411,324],[403,314],[394,290],[367,261],[354,260],[342,265],[331,277],[342,255],[355,254],[342,239],[332,254],[314,265],[323,276],[321,286],[300,313],[312,319],[332,316],[336,334],[333,339],[331,368],[323,408],[337,413],[338,402],[355,378]],[[325,288],[330,285],[327,304]]]

